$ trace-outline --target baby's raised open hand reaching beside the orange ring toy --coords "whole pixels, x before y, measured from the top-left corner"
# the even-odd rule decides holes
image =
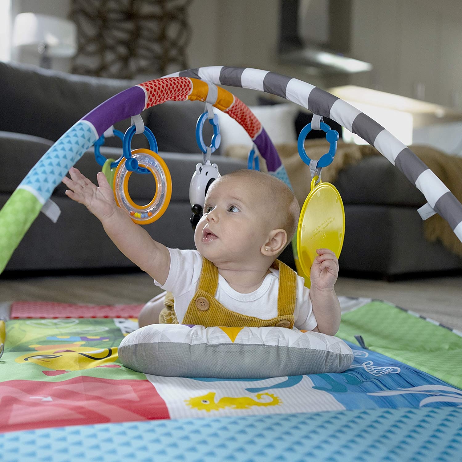
[[[99,188],[74,167],[70,168],[69,174],[71,178],[65,176],[62,179],[62,182],[69,188],[66,195],[73,201],[85,205],[100,221],[110,218],[117,209],[117,205],[114,192],[104,173],[98,172],[97,174]]]

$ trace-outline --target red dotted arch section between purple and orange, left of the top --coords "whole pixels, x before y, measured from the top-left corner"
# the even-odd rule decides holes
[[[144,82],[140,85],[146,90],[146,107],[150,108],[165,101],[185,101],[193,91],[193,83],[187,77],[166,77]]]

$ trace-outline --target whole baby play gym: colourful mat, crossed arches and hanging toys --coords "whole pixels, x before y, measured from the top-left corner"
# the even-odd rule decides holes
[[[165,101],[202,101],[207,109],[199,128],[206,118],[213,125],[212,144],[206,146],[203,139],[200,143],[204,163],[191,172],[193,227],[210,184],[206,175],[218,177],[210,161],[219,145],[213,108],[240,123],[265,159],[268,173],[290,187],[261,123],[218,85],[265,91],[309,109],[313,120],[302,130],[301,148],[309,130],[326,132],[330,148],[319,160],[299,149],[310,167],[315,196],[310,207],[305,203],[304,212],[315,213],[317,222],[309,230],[310,220],[301,219],[293,241],[300,274],[308,271],[318,245],[310,244],[311,237],[330,236],[337,255],[344,237],[344,211],[340,196],[332,195],[334,189],[328,197],[332,210],[321,199],[311,210],[324,195],[326,185],[316,178],[320,180],[321,169],[333,161],[338,139],[322,117],[375,146],[425,196],[427,203],[419,209],[422,219],[439,213],[462,241],[462,204],[380,124],[298,79],[213,66],[135,85],[69,128],[0,210],[0,273],[40,211],[58,219],[59,208],[50,196],[93,145],[97,162],[116,185],[118,203],[135,222],[152,222],[164,212],[171,195],[170,175],[140,113]],[[119,136],[113,124],[128,118],[131,126],[122,134],[125,170],[112,171],[122,157],[101,159],[98,146],[107,136]],[[135,133],[148,138],[149,156],[130,150]],[[147,206],[129,197],[131,172],[154,176],[156,192]],[[318,210],[325,214],[317,215]],[[344,314],[337,336],[354,356],[345,372],[253,379],[163,377],[126,368],[118,346],[138,328],[141,305],[0,304],[0,461],[460,460],[462,334],[383,301],[342,298],[341,303]],[[229,338],[234,343],[232,334]]]

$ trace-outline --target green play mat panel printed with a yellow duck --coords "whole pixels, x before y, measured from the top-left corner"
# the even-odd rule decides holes
[[[79,376],[146,380],[120,363],[117,347],[123,336],[107,318],[7,321],[0,382],[61,382]]]

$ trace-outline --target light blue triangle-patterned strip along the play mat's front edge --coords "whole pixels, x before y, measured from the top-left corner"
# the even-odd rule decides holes
[[[0,460],[459,461],[462,408],[151,420],[0,435]]]

